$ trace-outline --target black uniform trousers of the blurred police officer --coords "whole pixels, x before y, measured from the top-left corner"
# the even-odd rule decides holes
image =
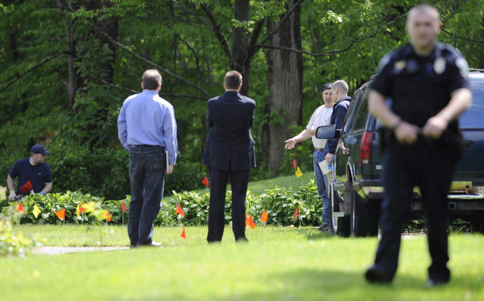
[[[450,271],[447,230],[447,193],[457,153],[435,146],[389,146],[384,154],[384,200],[381,205],[382,239],[375,265],[390,277],[397,271],[400,236],[408,220],[414,186],[420,188],[427,217],[430,278],[447,281]]]

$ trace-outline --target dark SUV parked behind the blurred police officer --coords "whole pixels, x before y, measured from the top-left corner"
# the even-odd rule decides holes
[[[370,78],[370,82],[374,77]],[[472,106],[459,118],[464,140],[464,157],[458,163],[448,208],[452,218],[471,222],[472,230],[484,232],[484,70],[470,70]],[[353,94],[343,129],[319,127],[318,138],[338,139],[330,183],[332,230],[341,236],[377,235],[380,202],[383,198],[381,174],[385,166],[379,152],[379,122],[368,110],[370,82]],[[445,164],[445,162],[442,162]],[[422,216],[418,187],[413,190],[411,215]]]

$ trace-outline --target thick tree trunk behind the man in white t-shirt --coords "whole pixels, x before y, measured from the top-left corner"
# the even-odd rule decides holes
[[[290,10],[296,1],[290,0],[286,10]],[[283,16],[281,16],[282,18]],[[271,38],[274,46],[301,49],[300,7],[282,24]],[[277,23],[267,21],[270,32]],[[302,121],[302,55],[292,51],[269,49],[267,63],[267,89],[272,94],[266,100],[265,112],[269,115],[262,134],[262,150],[268,160],[268,167],[275,176],[283,163],[284,140],[294,133],[291,125],[300,125]]]

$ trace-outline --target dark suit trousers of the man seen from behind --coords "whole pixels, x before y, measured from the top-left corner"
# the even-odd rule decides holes
[[[210,208],[207,241],[220,242],[225,226],[225,191],[228,176],[232,186],[232,230],[235,240],[246,239],[246,194],[249,169],[227,171],[210,168]]]

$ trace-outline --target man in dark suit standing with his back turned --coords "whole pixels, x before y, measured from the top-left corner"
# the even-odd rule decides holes
[[[209,167],[210,208],[207,240],[220,242],[225,225],[225,191],[230,175],[232,186],[232,230],[235,240],[247,240],[245,234],[246,194],[249,170],[256,166],[251,127],[256,102],[239,93],[242,75],[225,74],[225,93],[208,100],[209,133],[203,164]]]

